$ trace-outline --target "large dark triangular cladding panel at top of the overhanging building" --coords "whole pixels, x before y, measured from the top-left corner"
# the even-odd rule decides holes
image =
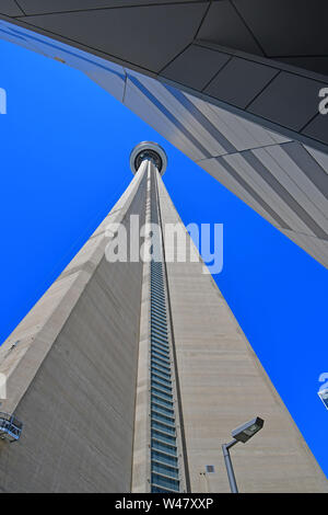
[[[207,8],[207,2],[144,5],[43,14],[20,20],[86,45],[91,50],[159,72],[191,43]]]

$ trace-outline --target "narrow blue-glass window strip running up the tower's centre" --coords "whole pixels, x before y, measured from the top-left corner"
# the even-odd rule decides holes
[[[155,178],[152,176],[152,193]],[[151,195],[151,221],[159,222],[155,195]],[[175,404],[172,387],[172,357],[165,296],[165,272],[161,241],[161,261],[150,264],[151,298],[151,492],[179,492],[179,462],[176,436]]]

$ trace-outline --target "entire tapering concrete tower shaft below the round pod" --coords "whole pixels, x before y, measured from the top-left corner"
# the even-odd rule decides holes
[[[229,492],[221,444],[255,415],[263,430],[234,448],[239,491],[327,491],[216,284],[195,260],[161,173],[156,156],[137,160],[121,198],[0,347],[8,378],[1,411],[24,424],[17,442],[0,440],[0,491]],[[138,237],[143,256],[150,241],[153,253],[108,262],[106,228],[125,228],[129,256],[131,216],[140,227],[154,225]],[[184,262],[180,243],[166,238],[168,225],[185,234]]]

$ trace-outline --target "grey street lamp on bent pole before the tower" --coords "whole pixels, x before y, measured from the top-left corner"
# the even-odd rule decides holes
[[[243,444],[245,444],[249,438],[251,438],[251,436],[254,436],[263,427],[263,423],[265,421],[262,419],[260,419],[259,416],[256,416],[256,419],[253,419],[251,421],[246,422],[246,424],[239,425],[239,427],[232,431],[231,433],[233,437],[232,442],[230,442],[229,444],[222,445],[222,451],[224,456],[227,478],[229,478],[232,493],[238,493],[238,489],[237,489],[234,469],[232,466],[232,460],[230,457],[230,449],[234,445],[236,445],[238,442],[243,442]]]

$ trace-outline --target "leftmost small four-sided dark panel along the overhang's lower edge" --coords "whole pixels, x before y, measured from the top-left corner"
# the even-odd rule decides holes
[[[176,57],[161,76],[201,91],[231,56],[191,45]]]

